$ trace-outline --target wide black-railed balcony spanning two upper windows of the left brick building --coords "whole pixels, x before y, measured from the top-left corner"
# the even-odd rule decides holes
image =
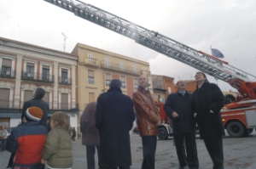
[[[55,77],[54,75],[45,75],[43,73],[33,73],[33,72],[22,71],[21,79],[53,83],[53,82],[55,82],[54,77]]]

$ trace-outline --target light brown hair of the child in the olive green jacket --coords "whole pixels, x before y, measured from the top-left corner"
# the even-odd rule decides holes
[[[51,121],[55,123],[55,128],[64,128],[65,130],[68,130],[70,127],[69,116],[62,111],[55,112],[51,116]]]

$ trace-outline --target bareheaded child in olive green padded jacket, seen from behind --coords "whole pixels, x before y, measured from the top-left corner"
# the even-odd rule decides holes
[[[50,127],[41,162],[50,169],[71,169],[73,152],[67,132],[70,127],[69,116],[61,111],[55,112],[51,116]]]

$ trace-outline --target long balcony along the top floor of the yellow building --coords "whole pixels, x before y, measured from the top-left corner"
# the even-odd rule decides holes
[[[135,75],[141,75],[142,73],[142,70],[140,69],[137,69],[137,68],[134,69],[134,67],[127,66],[127,65],[120,66],[119,63],[108,62],[108,64],[106,64],[105,60],[101,60],[100,63],[103,68],[110,69],[110,70],[119,70],[125,73],[131,73]]]

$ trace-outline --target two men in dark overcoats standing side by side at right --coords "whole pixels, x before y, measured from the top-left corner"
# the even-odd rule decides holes
[[[212,169],[224,169],[222,136],[225,133],[220,115],[224,95],[216,84],[207,81],[203,72],[195,74],[195,81],[197,86],[192,94],[186,91],[184,81],[178,81],[177,93],[170,94],[164,105],[166,114],[172,119],[179,169],[185,166],[199,168],[195,124],[212,159]]]

